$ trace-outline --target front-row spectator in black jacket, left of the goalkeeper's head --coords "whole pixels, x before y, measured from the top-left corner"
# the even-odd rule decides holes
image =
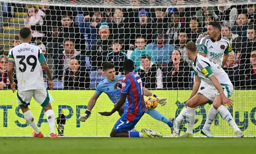
[[[70,60],[69,69],[66,70],[64,76],[64,87],[68,89],[90,88],[90,76],[76,59]]]

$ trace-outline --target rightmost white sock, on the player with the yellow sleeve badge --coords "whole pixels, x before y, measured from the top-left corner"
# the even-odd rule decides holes
[[[236,123],[235,123],[233,117],[231,116],[230,112],[228,111],[227,108],[225,108],[225,106],[221,105],[221,106],[217,109],[217,111],[220,112],[222,118],[223,118],[224,120],[226,120],[230,126],[232,126],[234,132],[240,130],[240,129],[238,128],[238,126],[236,125]]]

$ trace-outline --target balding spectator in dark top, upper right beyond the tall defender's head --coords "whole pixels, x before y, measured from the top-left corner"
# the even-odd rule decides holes
[[[239,14],[236,20],[236,26],[232,26],[231,32],[233,34],[238,34],[242,38],[242,42],[246,42],[246,31],[248,28],[246,14]]]

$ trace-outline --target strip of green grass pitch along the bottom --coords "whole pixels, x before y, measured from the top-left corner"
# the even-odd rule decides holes
[[[0,137],[0,154],[253,154],[256,138]]]

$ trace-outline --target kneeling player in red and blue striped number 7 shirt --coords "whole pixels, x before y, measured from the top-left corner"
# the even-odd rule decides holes
[[[142,129],[141,132],[128,132],[134,128],[144,115],[146,106],[143,98],[142,80],[134,71],[132,60],[124,61],[125,77],[122,80],[120,99],[111,112],[99,112],[102,116],[111,116],[124,104],[124,114],[117,120],[110,137],[162,137],[160,132]],[[127,101],[126,101],[127,97]]]

